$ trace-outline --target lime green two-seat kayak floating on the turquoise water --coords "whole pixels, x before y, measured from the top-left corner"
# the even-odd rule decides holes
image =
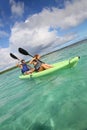
[[[77,65],[79,59],[80,59],[80,57],[76,56],[76,57],[68,59],[68,60],[54,63],[54,64],[52,64],[52,66],[53,66],[52,68],[46,69],[44,71],[33,72],[32,74],[28,74],[28,75],[22,74],[19,76],[19,78],[20,79],[37,78],[37,77],[41,77],[41,76],[53,73],[53,72],[58,71],[60,69],[71,68],[71,67],[74,67]]]

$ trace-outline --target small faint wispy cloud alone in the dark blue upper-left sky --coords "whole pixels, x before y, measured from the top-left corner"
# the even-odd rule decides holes
[[[24,3],[10,0],[10,4],[12,14],[16,16],[22,16],[22,14],[24,13]]]

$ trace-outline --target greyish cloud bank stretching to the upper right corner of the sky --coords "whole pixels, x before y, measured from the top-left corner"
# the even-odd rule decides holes
[[[52,26],[66,29],[74,27],[87,19],[87,1],[76,0],[73,4],[66,5],[65,9],[43,9],[39,14],[35,14],[26,22],[29,22],[31,28]]]

